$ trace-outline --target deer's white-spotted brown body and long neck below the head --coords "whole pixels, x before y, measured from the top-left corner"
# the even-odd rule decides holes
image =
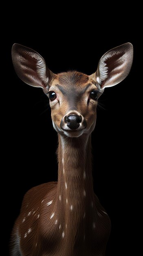
[[[24,197],[18,219],[24,255],[100,255],[105,250],[110,220],[92,188],[90,138],[85,151],[82,145],[79,152],[71,152],[67,142],[69,162],[59,143],[58,183],[37,186]],[[72,143],[77,149],[77,141]]]

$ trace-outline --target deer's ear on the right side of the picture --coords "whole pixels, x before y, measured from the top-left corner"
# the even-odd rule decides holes
[[[101,89],[120,83],[128,76],[133,60],[133,46],[125,43],[106,52],[100,59],[97,71],[91,75]]]

